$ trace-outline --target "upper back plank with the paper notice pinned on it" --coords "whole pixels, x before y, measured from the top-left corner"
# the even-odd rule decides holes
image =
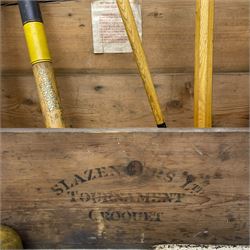
[[[93,54],[90,0],[41,5],[56,69],[136,71],[132,54]],[[248,0],[216,1],[216,72],[248,71],[248,10]],[[143,0],[142,13],[143,44],[150,68],[154,72],[192,72],[195,0]],[[2,7],[1,20],[1,69],[30,70],[17,6]]]

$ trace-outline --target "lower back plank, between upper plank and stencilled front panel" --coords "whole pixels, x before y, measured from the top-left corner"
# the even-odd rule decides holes
[[[193,74],[155,74],[170,127],[193,127]],[[139,75],[60,75],[67,127],[154,127]],[[214,127],[248,127],[249,75],[214,75]],[[2,127],[43,127],[31,75],[2,79]],[[165,115],[165,114],[164,114]]]

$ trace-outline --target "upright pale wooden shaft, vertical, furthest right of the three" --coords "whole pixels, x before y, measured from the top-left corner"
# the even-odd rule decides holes
[[[212,127],[214,0],[196,0],[194,126]]]

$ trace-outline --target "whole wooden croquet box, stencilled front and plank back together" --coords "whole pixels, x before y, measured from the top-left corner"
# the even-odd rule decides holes
[[[27,248],[249,243],[249,1],[215,1],[213,129],[193,129],[195,0],[143,0],[168,129],[132,54],[93,54],[91,1],[42,1],[67,129],[43,129],[18,7],[1,6],[1,223]]]

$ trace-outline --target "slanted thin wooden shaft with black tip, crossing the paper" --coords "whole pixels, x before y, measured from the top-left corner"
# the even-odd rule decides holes
[[[148,62],[142,46],[141,38],[136,26],[133,11],[129,0],[116,0],[120,14],[127,31],[127,35],[133,49],[135,60],[144,83],[144,87],[148,96],[148,100],[154,114],[157,127],[165,128],[166,123],[161,111],[158,97],[153,84],[152,76],[149,71]]]

